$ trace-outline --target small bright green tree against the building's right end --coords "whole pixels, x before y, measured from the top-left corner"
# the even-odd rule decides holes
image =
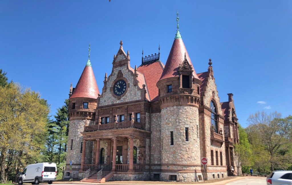
[[[251,165],[251,146],[248,142],[248,136],[245,129],[239,125],[238,129],[239,143],[234,144],[234,162],[237,167],[237,175],[239,175],[239,168],[242,166]]]

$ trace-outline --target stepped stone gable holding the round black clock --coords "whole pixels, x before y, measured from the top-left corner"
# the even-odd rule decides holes
[[[145,77],[130,66],[129,51],[123,50],[123,42],[114,56],[112,73],[105,75],[102,94],[98,97],[98,107],[134,101],[150,100]]]

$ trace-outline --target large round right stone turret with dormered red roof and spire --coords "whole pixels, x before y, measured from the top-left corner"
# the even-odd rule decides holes
[[[178,15],[178,13],[177,13]],[[200,173],[198,78],[179,31],[171,47],[164,71],[157,82],[161,108],[161,180],[174,178],[166,166],[171,166],[179,181],[197,179]],[[183,169],[192,169],[193,172]],[[177,172],[177,173],[176,173]]]

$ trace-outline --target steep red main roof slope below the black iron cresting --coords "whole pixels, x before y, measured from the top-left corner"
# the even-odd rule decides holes
[[[144,74],[147,89],[150,95],[150,101],[158,100],[158,88],[156,83],[159,81],[163,72],[164,65],[160,62],[154,62],[139,66],[137,69],[140,73]]]

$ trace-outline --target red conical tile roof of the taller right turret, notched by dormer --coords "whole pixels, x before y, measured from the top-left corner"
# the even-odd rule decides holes
[[[187,61],[192,65],[192,61],[187,53],[183,40],[174,39],[160,80],[178,76],[178,66],[185,60],[185,53],[187,55]],[[194,65],[192,65],[192,67],[194,69]],[[195,70],[193,75],[195,78],[199,79]]]

